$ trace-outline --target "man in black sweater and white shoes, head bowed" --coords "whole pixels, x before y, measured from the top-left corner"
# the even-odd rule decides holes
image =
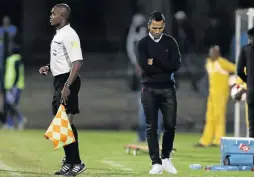
[[[173,149],[177,113],[174,73],[181,66],[181,55],[176,40],[163,34],[164,27],[164,15],[161,12],[153,12],[148,22],[149,34],[137,44],[138,63],[142,69],[141,100],[152,160],[150,174],[161,174],[163,169],[172,174],[177,173],[170,153]],[[159,109],[164,122],[161,158],[157,138]]]

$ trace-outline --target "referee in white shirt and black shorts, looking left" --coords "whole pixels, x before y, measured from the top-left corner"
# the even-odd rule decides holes
[[[39,72],[42,75],[52,72],[54,76],[53,115],[56,115],[60,103],[63,102],[76,139],[76,142],[64,146],[65,158],[61,169],[55,175],[76,176],[86,169],[80,159],[78,133],[73,124],[73,116],[80,112],[78,93],[81,80],[78,72],[83,57],[79,36],[69,24],[70,13],[71,9],[67,4],[57,4],[53,7],[50,23],[56,27],[56,34],[51,42],[50,64],[41,67]]]

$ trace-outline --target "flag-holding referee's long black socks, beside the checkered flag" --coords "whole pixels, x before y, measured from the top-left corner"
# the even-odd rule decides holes
[[[66,155],[66,163],[70,164],[80,164],[80,153],[79,153],[79,143],[78,143],[78,132],[74,124],[71,124],[75,142],[72,144],[69,144],[67,146],[64,146],[65,155]]]

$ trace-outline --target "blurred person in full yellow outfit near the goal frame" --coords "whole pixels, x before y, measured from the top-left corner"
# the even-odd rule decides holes
[[[220,48],[213,46],[206,60],[209,77],[206,124],[203,135],[195,147],[219,146],[226,132],[226,110],[229,98],[229,74],[235,73],[235,65],[222,58]]]

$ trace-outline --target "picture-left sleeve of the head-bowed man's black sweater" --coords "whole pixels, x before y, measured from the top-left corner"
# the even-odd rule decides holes
[[[162,72],[160,68],[157,68],[152,65],[148,65],[148,55],[146,54],[146,45],[144,41],[140,40],[137,42],[137,58],[138,58],[138,64],[141,67],[141,69],[146,72],[147,74],[154,74],[154,73],[159,73]]]

